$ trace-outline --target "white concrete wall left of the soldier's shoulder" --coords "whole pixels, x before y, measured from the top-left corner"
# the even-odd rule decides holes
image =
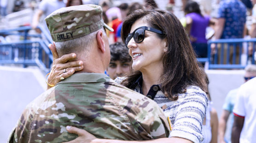
[[[0,143],[6,143],[26,105],[43,93],[47,86],[37,67],[0,66],[0,78]]]

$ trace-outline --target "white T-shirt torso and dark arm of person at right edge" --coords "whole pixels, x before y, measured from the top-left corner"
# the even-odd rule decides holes
[[[232,143],[256,141],[256,78],[244,83],[238,90],[233,109]]]

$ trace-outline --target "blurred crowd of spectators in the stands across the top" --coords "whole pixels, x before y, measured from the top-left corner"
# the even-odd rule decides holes
[[[256,0],[169,0],[164,8],[180,18],[198,57],[206,58],[209,39],[256,37],[256,8],[253,8],[255,3]],[[0,0],[0,4],[1,16],[4,17],[7,14],[7,4],[10,2]],[[61,7],[82,4],[96,4],[102,7],[105,23],[114,29],[114,32],[107,33],[111,44],[122,42],[122,21],[131,11],[143,7],[158,8],[154,0],[141,0],[141,2],[134,3],[126,0],[30,0],[29,3],[25,0],[14,0],[12,12],[26,8],[35,9],[33,20],[29,23],[32,28],[36,29],[41,22],[47,29],[43,20],[47,15]],[[180,4],[181,7],[179,7]],[[36,30],[40,32],[39,29]],[[215,47],[215,44],[211,44],[211,54],[215,54]],[[252,50],[252,46],[249,46],[249,50],[243,52],[252,56]],[[236,63],[238,63],[239,51],[235,52],[237,53]],[[232,63],[232,56],[232,54],[229,56],[230,63]],[[224,59],[226,58],[224,57]],[[227,63],[227,61],[224,62]]]

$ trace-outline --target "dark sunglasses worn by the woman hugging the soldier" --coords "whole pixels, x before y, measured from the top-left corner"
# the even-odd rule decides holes
[[[154,32],[154,33],[158,33],[158,34],[163,34],[162,31],[157,30],[155,28],[149,28],[149,27],[146,27],[146,26],[139,27],[139,28],[135,29],[133,33],[129,33],[127,35],[127,37],[125,38],[126,47],[128,48],[128,43],[132,38],[134,38],[134,41],[136,43],[142,42],[145,38],[145,30],[151,31],[151,32]]]

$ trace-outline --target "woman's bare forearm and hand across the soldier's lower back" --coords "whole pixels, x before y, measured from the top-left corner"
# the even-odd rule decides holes
[[[152,140],[143,140],[143,141],[123,141],[115,139],[100,139],[94,137],[89,132],[79,129],[75,126],[67,126],[67,131],[70,133],[75,133],[78,137],[75,140],[66,143],[192,143],[190,140],[180,138],[180,137],[165,137]]]

